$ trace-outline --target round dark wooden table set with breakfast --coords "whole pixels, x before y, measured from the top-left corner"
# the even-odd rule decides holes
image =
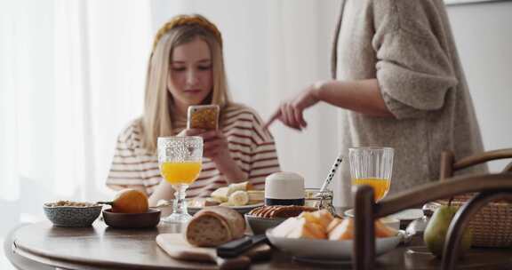
[[[97,220],[86,228],[66,228],[41,222],[20,226],[12,231],[12,250],[16,256],[30,260],[42,269],[44,265],[64,269],[215,269],[215,266],[182,262],[161,250],[157,234],[180,232],[180,226],[159,225],[148,230],[122,230]],[[440,261],[431,254],[411,253],[422,246],[420,237],[401,245],[379,258],[378,269],[439,269]],[[512,269],[510,249],[472,249],[460,261],[464,269]],[[12,258],[11,258],[12,259]],[[273,258],[253,264],[251,269],[332,269],[343,266],[308,265],[295,262],[291,256],[276,250]],[[32,268],[28,268],[32,269]]]

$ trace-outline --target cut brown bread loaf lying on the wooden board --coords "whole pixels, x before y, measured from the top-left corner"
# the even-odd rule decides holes
[[[236,210],[212,206],[200,210],[188,222],[187,241],[198,247],[216,247],[244,236],[245,220]]]

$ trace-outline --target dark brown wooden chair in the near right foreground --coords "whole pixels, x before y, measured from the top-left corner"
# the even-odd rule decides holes
[[[373,202],[372,187],[352,187],[352,193],[355,200],[356,239],[353,250],[355,269],[374,268],[375,232],[373,221],[375,219],[454,195],[478,193],[460,207],[448,229],[447,241],[444,243],[442,269],[454,269],[462,232],[468,225],[469,218],[487,203],[500,199],[512,199],[512,174],[461,176],[447,181],[437,181],[396,195],[389,195],[378,203]]]

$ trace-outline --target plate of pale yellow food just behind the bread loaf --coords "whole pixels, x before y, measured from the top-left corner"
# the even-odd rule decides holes
[[[193,215],[208,206],[226,206],[244,214],[263,205],[265,191],[252,189],[251,183],[245,181],[220,187],[207,198],[187,199],[188,212]]]

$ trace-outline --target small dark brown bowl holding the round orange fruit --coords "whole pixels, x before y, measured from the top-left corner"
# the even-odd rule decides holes
[[[103,210],[103,219],[108,226],[116,228],[149,228],[158,225],[161,211],[149,208],[145,213],[116,213],[111,209]]]

